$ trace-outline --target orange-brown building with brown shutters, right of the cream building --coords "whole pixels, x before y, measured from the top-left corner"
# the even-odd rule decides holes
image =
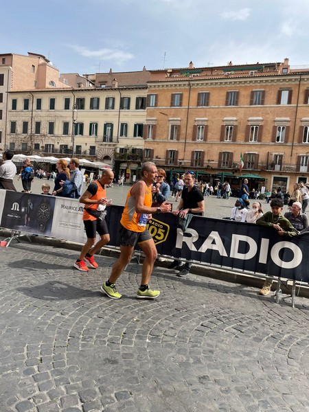
[[[309,68],[284,62],[150,71],[144,158],[255,187],[308,180]],[[240,172],[240,159],[244,166]]]

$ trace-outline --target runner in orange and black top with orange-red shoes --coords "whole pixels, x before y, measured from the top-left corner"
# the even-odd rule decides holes
[[[111,205],[111,201],[106,199],[105,185],[109,185],[113,179],[113,171],[111,169],[103,169],[101,179],[93,181],[80,197],[80,203],[85,205],[82,220],[87,235],[87,242],[82,247],[74,267],[81,272],[89,271],[85,262],[93,269],[98,268],[99,265],[95,262],[93,255],[109,242],[110,238],[104,219],[104,209],[106,206]],[[97,232],[99,233],[100,240],[95,244]]]

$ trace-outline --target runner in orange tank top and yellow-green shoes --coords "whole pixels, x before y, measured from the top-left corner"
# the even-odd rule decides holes
[[[157,259],[155,242],[146,229],[147,221],[153,213],[167,213],[171,205],[163,202],[160,207],[151,207],[152,185],[157,183],[158,172],[155,163],[148,161],[141,166],[141,180],[131,187],[126,198],[126,205],[120,220],[120,256],[113,265],[111,276],[101,286],[101,290],[111,299],[120,299],[115,283],[130,262],[135,244],[139,244],[146,258],[141,271],[141,285],[137,290],[138,299],[155,299],[160,295],[159,290],[152,290],[148,283],[152,268]]]

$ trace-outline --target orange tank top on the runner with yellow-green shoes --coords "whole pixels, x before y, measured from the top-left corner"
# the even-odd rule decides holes
[[[146,185],[146,183],[145,183]],[[148,214],[137,213],[135,211],[135,197],[132,196],[130,188],[128,194],[126,195],[126,205],[124,205],[124,211],[122,212],[122,218],[120,223],[123,227],[128,230],[142,232],[146,229],[146,224],[148,221]],[[152,204],[152,192],[151,185],[146,185],[146,192],[144,197],[144,206],[151,207]]]

